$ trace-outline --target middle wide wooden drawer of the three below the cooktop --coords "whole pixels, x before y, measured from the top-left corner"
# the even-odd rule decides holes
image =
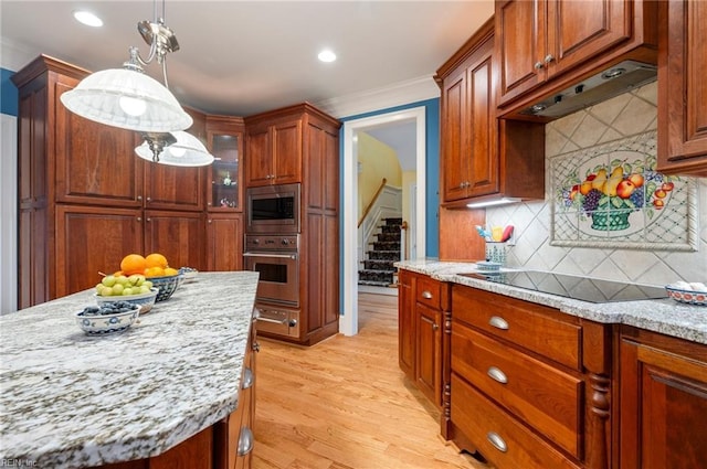
[[[581,380],[457,323],[452,326],[452,372],[582,459]]]

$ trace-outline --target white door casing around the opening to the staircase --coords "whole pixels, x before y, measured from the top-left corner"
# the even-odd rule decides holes
[[[415,226],[410,231],[410,244],[415,258],[425,257],[425,108],[424,106],[380,114],[344,122],[344,315],[339,317],[339,331],[345,335],[358,333],[358,152],[356,137],[360,131],[372,131],[401,122],[414,125],[414,158],[416,167],[414,192]],[[414,218],[414,220],[413,220]],[[411,246],[411,247],[412,247]],[[411,249],[412,252],[412,249]]]

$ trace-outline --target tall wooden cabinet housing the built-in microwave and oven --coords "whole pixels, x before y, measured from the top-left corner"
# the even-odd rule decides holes
[[[246,186],[300,183],[297,328],[263,334],[312,345],[339,328],[339,127],[308,103],[245,118]]]

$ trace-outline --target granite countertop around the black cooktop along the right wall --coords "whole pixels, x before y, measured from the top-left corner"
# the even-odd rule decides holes
[[[428,275],[437,280],[466,285],[481,290],[549,306],[579,318],[603,323],[635,326],[666,335],[707,344],[707,307],[679,303],[669,298],[593,303],[456,275],[476,271],[473,263],[421,259],[395,263],[395,266]]]

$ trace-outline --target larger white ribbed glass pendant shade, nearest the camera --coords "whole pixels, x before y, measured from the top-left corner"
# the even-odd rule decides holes
[[[107,126],[143,132],[170,132],[193,119],[157,79],[134,68],[109,68],[88,75],[61,96],[68,110]]]

